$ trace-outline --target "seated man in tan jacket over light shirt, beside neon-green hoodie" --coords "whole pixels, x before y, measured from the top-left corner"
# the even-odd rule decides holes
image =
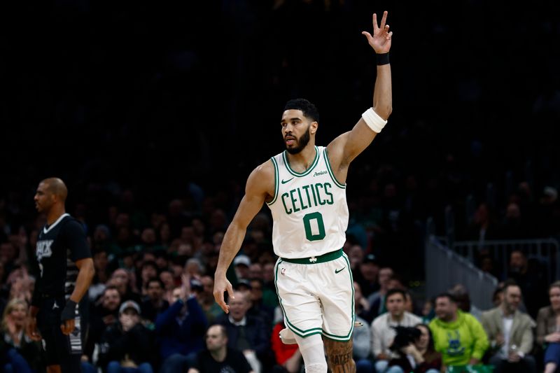
[[[536,373],[533,350],[535,321],[519,311],[521,288],[514,282],[505,283],[500,306],[482,313],[482,326],[491,344],[489,363],[496,373]]]

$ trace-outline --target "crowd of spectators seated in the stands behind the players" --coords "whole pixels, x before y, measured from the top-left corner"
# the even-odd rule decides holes
[[[87,232],[95,267],[80,304],[85,372],[123,367],[209,372],[226,356],[227,364],[241,371],[302,372],[297,345],[279,337],[284,325],[266,210],[251,223],[232,262],[228,276],[235,299],[229,300],[230,314],[224,314],[214,302],[213,275],[229,217],[217,199],[173,199],[167,211],[146,215],[134,208],[130,190],[120,197],[106,208],[102,223],[90,224],[80,215],[80,204],[73,211]],[[18,226],[12,223],[18,219],[10,218],[2,225],[1,362],[14,371],[24,366],[22,372],[41,372],[41,346],[23,327],[36,276],[34,244],[45,220],[29,216],[28,224]],[[472,290],[462,284],[425,299],[409,276],[353,234],[344,252],[354,279],[358,372],[433,373],[442,366],[479,363],[499,367],[496,372],[538,367],[554,372],[559,365],[560,286],[547,283],[524,251],[510,253],[491,310],[470,304]]]

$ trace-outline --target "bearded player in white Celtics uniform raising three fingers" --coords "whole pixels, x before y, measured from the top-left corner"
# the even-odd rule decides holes
[[[275,283],[287,329],[283,342],[295,340],[306,372],[355,372],[352,360],[353,281],[342,246],[348,206],[345,181],[350,162],[381,132],[392,110],[392,32],[387,12],[373,34],[363,31],[377,57],[373,107],[349,132],[326,147],[315,146],[318,112],[304,99],[290,100],[282,115],[286,151],[249,175],[245,196],[225,233],[215,274],[214,297],[227,313],[224,292],[232,297],[225,273],[241,247],[246,227],[265,202],[272,211]],[[323,338],[322,338],[323,337]],[[324,342],[323,342],[324,339]]]

